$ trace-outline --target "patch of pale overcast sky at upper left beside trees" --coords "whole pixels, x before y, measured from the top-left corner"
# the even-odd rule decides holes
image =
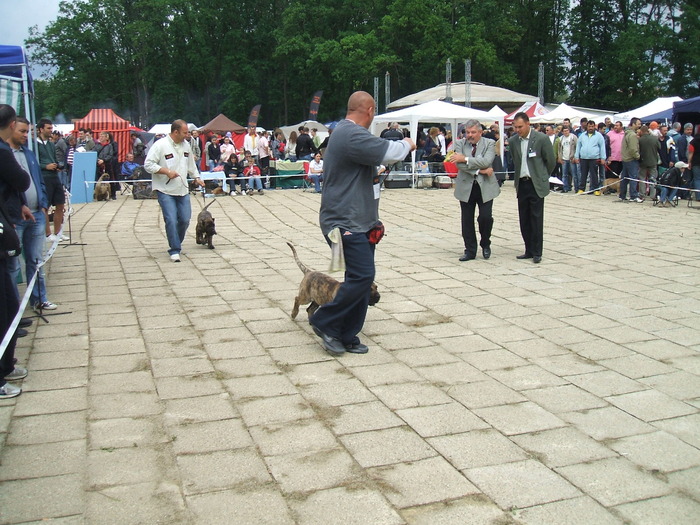
[[[22,46],[29,36],[33,25],[43,30],[58,16],[60,0],[0,0],[0,12],[3,15],[0,44]],[[42,71],[30,68],[34,78]]]

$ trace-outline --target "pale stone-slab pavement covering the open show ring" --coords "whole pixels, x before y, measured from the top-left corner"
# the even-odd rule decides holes
[[[0,402],[0,523],[697,523],[700,209],[553,194],[534,265],[507,183],[460,263],[452,192],[387,190],[370,353],[336,359],[289,316],[319,202],[219,198],[180,264],[156,201],[75,206]]]

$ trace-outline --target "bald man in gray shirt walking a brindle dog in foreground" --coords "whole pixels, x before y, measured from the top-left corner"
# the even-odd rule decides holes
[[[345,120],[328,141],[320,225],[329,244],[339,232],[345,255],[345,281],[335,299],[321,306],[310,323],[331,355],[367,353],[357,334],[362,330],[374,281],[374,249],[379,242],[379,164],[392,164],[416,149],[409,138],[389,141],[372,135],[374,99],[356,91],[348,99]]]

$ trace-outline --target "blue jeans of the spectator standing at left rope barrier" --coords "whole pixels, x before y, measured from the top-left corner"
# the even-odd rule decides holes
[[[46,217],[44,212],[39,211],[34,214],[35,221],[20,221],[15,225],[17,236],[22,244],[22,255],[10,257],[7,262],[7,270],[16,283],[19,278],[21,261],[24,257],[26,263],[25,279],[27,284],[31,281],[37,266],[44,258],[44,242],[46,240]],[[17,290],[17,286],[15,286]],[[19,299],[19,297],[18,297]],[[46,281],[44,279],[44,269],[39,268],[39,275],[34,282],[34,288],[29,296],[29,304],[34,306],[38,303],[46,302]]]

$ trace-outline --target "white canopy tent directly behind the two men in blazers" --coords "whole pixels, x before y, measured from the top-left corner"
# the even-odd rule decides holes
[[[418,137],[418,124],[420,122],[430,124],[450,124],[452,126],[452,133],[455,135],[454,138],[456,139],[459,125],[464,124],[470,119],[476,119],[482,124],[492,124],[494,122],[498,122],[499,129],[503,130],[503,116],[494,116],[486,111],[465,108],[464,106],[457,106],[455,104],[442,102],[440,100],[431,100],[430,102],[426,102],[424,104],[375,116],[372,131],[375,135],[379,135],[381,130],[386,127],[388,122],[408,124],[411,132],[411,138],[416,140],[416,137]],[[503,141],[501,141],[501,151],[499,155],[501,158],[503,158]],[[412,153],[411,157],[413,159],[413,171],[415,172],[415,151]]]

